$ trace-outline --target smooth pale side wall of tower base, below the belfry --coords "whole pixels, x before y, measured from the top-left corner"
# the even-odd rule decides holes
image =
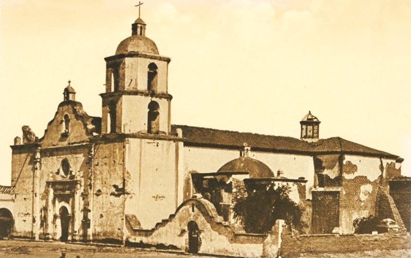
[[[173,140],[128,139],[125,214],[134,214],[144,229],[168,218],[183,201],[179,146]]]

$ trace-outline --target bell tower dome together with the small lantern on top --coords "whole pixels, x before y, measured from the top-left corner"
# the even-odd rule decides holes
[[[154,41],[145,36],[145,27],[144,20],[138,17],[132,24],[132,36],[120,42],[116,55],[136,52],[158,55]]]

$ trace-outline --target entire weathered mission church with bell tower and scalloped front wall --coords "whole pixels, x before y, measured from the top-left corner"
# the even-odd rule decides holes
[[[200,251],[244,254],[265,237],[236,226],[233,200],[243,186],[287,184],[306,208],[306,233],[343,234],[355,219],[378,216],[379,191],[401,176],[397,155],[321,139],[311,112],[296,121],[295,138],[172,124],[171,59],[140,17],[105,61],[101,117],[83,110],[69,81],[44,136],[23,126],[14,139],[13,236],[192,250],[201,232]],[[409,230],[409,216],[396,210],[391,219]]]

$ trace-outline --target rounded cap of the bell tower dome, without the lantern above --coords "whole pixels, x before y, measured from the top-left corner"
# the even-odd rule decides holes
[[[134,35],[120,42],[116,50],[116,55],[130,52],[140,52],[158,55],[156,44],[150,38]]]

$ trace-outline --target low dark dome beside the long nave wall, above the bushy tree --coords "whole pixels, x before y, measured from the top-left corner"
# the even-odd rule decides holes
[[[271,178],[273,171],[263,162],[250,157],[239,157],[224,164],[218,172],[248,171],[250,178]]]

